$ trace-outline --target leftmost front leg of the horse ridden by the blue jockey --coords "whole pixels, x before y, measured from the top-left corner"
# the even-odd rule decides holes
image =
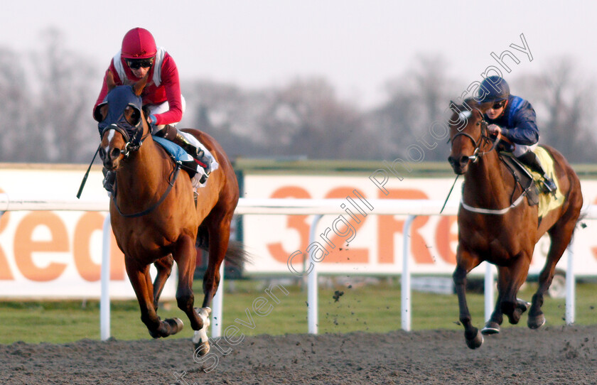
[[[470,347],[470,349],[476,349],[483,345],[483,335],[473,326],[473,322],[470,318],[470,311],[468,310],[468,305],[466,303],[466,274],[475,266],[478,266],[480,260],[468,252],[461,252],[460,246],[458,246],[457,254],[458,264],[456,265],[456,270],[452,277],[456,288],[456,294],[458,295],[458,309],[460,310],[459,319],[464,327],[466,345]]]

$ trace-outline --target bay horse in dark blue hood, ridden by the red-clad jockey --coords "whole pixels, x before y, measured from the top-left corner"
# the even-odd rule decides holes
[[[141,321],[154,338],[182,330],[180,319],[161,320],[157,315],[161,291],[176,261],[176,302],[195,330],[195,352],[207,354],[209,306],[220,283],[220,265],[224,259],[241,264],[246,257],[242,247],[229,242],[230,222],[239,199],[235,172],[211,136],[185,130],[197,137],[220,165],[193,197],[188,173],[178,174],[180,165],[151,136],[140,97],[146,77],[134,85],[116,87],[110,75],[106,100],[94,113],[101,131],[99,156],[104,168],[116,173],[110,219],[139,301]],[[192,290],[197,239],[206,240],[209,251],[200,309],[194,308]],[[207,244],[201,246],[207,248]],[[149,274],[151,264],[157,269],[154,283]]]

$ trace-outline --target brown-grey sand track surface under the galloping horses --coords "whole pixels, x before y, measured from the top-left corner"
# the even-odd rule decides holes
[[[215,358],[195,362],[190,340],[16,342],[0,345],[0,383],[597,384],[597,325],[521,325],[476,350],[454,330],[262,335],[221,349],[205,373]]]

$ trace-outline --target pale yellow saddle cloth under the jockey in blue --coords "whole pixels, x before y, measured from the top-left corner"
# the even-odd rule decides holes
[[[512,153],[501,153],[502,159],[506,163],[508,167],[512,170],[515,175],[517,175],[522,188],[527,190],[527,197],[529,200],[529,205],[537,205],[537,200],[539,204],[539,218],[544,217],[547,215],[548,212],[560,207],[564,203],[564,195],[561,194],[559,188],[559,182],[556,178],[555,170],[554,170],[554,159],[552,156],[549,155],[547,150],[541,146],[537,146],[537,148],[533,151],[539,161],[541,162],[545,173],[554,180],[556,183],[556,193],[543,193],[542,188],[542,180],[543,175],[540,175],[537,172],[532,171],[529,167],[523,165],[518,161]],[[531,181],[532,179],[532,181]],[[537,192],[539,193],[538,198]]]

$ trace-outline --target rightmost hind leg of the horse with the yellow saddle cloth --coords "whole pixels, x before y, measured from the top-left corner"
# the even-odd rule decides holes
[[[529,318],[527,325],[531,329],[538,329],[545,323],[545,315],[541,310],[543,305],[543,298],[549,285],[552,284],[554,273],[556,271],[556,264],[560,260],[566,247],[572,239],[572,233],[576,225],[576,219],[574,221],[565,222],[564,224],[557,223],[552,229],[549,229],[549,238],[552,240],[552,245],[549,247],[549,253],[547,253],[547,260],[541,273],[539,273],[539,287],[537,293],[533,295],[531,309],[529,310]]]

